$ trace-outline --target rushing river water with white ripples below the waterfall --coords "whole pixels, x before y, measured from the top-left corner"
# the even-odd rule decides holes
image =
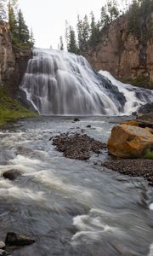
[[[71,160],[49,140],[69,131],[105,143],[114,122],[124,118],[80,119],[21,119],[0,131],[0,239],[8,231],[36,237],[15,256],[153,255],[152,187],[100,166],[105,152]],[[3,178],[10,169],[22,176]]]

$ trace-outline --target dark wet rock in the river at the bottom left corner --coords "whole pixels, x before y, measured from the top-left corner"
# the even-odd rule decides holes
[[[14,232],[8,232],[5,243],[7,246],[26,246],[34,243],[36,239],[33,237],[19,235]]]

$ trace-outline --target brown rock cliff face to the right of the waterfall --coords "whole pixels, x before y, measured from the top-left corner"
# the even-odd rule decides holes
[[[148,24],[153,24],[153,13]],[[107,70],[116,79],[135,80],[146,86],[153,83],[153,38],[140,44],[138,38],[127,32],[125,16],[112,22],[102,33],[101,42],[84,55],[95,69]]]

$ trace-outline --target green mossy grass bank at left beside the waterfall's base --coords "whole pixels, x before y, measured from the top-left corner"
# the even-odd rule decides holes
[[[2,86],[0,87],[0,125],[15,119],[35,116],[37,116],[37,113],[22,107],[19,102],[7,95],[6,90]]]

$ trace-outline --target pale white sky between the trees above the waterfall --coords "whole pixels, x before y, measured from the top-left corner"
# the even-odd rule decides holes
[[[26,24],[32,27],[36,47],[57,49],[59,36],[65,37],[65,20],[76,28],[77,15],[94,11],[99,19],[105,0],[19,0]]]

